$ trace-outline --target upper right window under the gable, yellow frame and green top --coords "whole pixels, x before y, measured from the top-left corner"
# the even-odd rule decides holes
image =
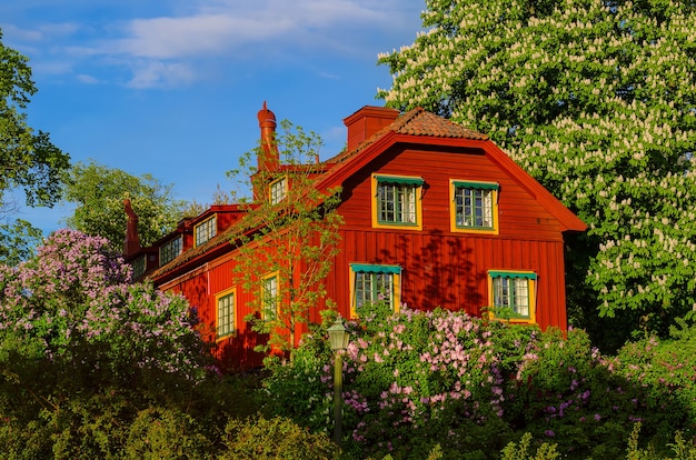
[[[498,184],[453,180],[451,230],[498,232]]]

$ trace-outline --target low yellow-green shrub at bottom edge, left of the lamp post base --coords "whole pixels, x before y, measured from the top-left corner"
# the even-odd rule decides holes
[[[289,419],[257,417],[232,419],[226,428],[225,460],[327,460],[338,458],[339,449],[322,433],[310,433]]]

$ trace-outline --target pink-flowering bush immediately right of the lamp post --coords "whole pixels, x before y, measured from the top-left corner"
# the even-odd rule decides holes
[[[402,309],[364,321],[382,323],[372,336],[354,324],[357,337],[345,354],[344,402],[347,419],[355,420],[355,441],[378,446],[431,423],[503,417],[504,379],[481,320]],[[330,369],[325,368],[326,382]]]

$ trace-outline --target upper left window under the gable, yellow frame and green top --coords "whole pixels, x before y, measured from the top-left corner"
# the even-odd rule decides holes
[[[421,178],[372,176],[372,227],[420,230],[422,184]]]

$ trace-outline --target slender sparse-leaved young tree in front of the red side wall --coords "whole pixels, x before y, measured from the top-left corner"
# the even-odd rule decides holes
[[[302,323],[309,322],[310,308],[326,299],[324,280],[338,251],[336,212],[338,190],[320,191],[315,180],[324,170],[318,154],[321,139],[287,120],[271,150],[279,154],[278,168],[258,170],[257,159],[269,153],[259,146],[241,159],[240,170],[228,174],[255,190],[251,199],[240,199],[245,218],[231,237],[241,242],[241,257],[233,272],[247,292],[253,293],[250,318],[253,329],[270,333],[269,347],[287,351],[295,346]],[[280,194],[271,196],[271,183]],[[285,184],[285,186],[284,186]],[[239,192],[235,192],[238,194]],[[267,276],[274,276],[269,289]]]

